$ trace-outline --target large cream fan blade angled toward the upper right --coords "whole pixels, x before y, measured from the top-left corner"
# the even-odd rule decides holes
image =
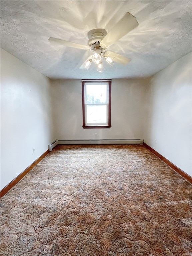
[[[101,47],[106,49],[137,26],[138,22],[136,18],[127,12],[123,18],[111,29],[111,31],[109,31],[109,33],[102,39],[100,42]]]

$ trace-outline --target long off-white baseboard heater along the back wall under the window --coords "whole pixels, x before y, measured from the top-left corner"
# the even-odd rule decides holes
[[[56,145],[75,145],[75,144],[140,144],[143,145],[143,139],[130,139],[130,140],[55,140],[48,145],[51,151]]]

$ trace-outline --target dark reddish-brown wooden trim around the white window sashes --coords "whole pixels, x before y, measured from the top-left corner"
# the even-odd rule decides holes
[[[83,125],[82,127],[84,129],[100,129],[100,128],[111,128],[111,79],[83,79],[82,82],[82,106],[83,106]],[[108,124],[101,125],[101,124],[91,124],[87,125],[85,121],[85,83],[86,82],[108,82],[108,92],[109,92],[109,98],[108,98]]]

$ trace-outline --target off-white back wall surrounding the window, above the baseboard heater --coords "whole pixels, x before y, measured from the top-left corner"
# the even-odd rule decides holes
[[[112,79],[112,127],[83,129],[81,80],[52,80],[55,138],[143,139],[146,81]]]

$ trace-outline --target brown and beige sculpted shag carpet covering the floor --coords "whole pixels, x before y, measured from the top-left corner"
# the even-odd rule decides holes
[[[141,145],[57,146],[2,198],[1,255],[191,256],[192,185]]]

